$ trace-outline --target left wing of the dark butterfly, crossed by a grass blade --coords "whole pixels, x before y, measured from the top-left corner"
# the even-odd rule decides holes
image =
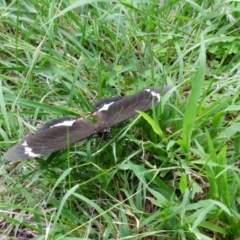
[[[29,159],[66,148],[95,134],[94,125],[84,118],[63,117],[46,123],[24,137],[5,153],[10,161]]]

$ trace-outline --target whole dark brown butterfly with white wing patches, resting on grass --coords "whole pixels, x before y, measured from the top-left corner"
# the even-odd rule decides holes
[[[65,116],[52,120],[25,136],[3,157],[9,161],[39,157],[65,149],[69,144],[75,144],[95,134],[107,139],[112,126],[134,117],[137,115],[136,110],[146,111],[160,102],[160,90],[157,87],[146,87],[133,95],[115,96],[98,101],[91,112],[97,119],[96,123],[89,122],[81,116]],[[169,86],[164,86],[162,93],[165,94],[169,90]]]

